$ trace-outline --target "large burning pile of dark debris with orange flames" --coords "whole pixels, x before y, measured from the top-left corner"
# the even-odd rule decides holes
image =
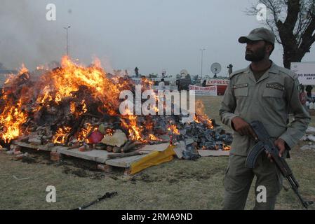
[[[149,90],[151,85],[145,80],[143,88]],[[86,67],[63,57],[61,67],[38,78],[22,66],[1,91],[1,141],[8,144],[18,139],[126,152],[140,144],[170,141],[173,136],[194,139],[199,149],[229,149],[232,137],[223,130],[217,132],[213,121],[202,112],[201,102],[192,124],[180,123],[181,116],[122,116],[119,94],[135,91],[134,87],[132,79],[106,73],[99,62]],[[112,144],[108,137],[118,140]]]

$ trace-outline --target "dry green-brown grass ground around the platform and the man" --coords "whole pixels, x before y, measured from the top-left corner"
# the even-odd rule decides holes
[[[222,97],[199,99],[208,116],[220,124],[218,108]],[[311,125],[314,124],[312,117]],[[315,200],[315,153],[300,151],[303,144],[293,149],[288,163],[302,195]],[[0,153],[0,209],[74,209],[108,191],[117,191],[118,195],[89,209],[221,209],[227,162],[227,157],[200,158],[195,162],[175,159],[134,176],[123,176],[119,171],[104,174],[82,168],[78,161],[51,162],[47,155],[32,154],[29,160],[21,161]],[[55,186],[56,203],[46,202],[47,186]],[[252,187],[246,209],[252,209],[254,203]],[[276,209],[302,207],[292,190],[282,190]]]

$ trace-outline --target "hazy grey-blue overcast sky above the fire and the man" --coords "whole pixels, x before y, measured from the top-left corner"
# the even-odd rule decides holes
[[[210,73],[210,64],[248,65],[239,36],[262,27],[244,11],[251,0],[1,0],[0,62],[8,69],[30,69],[66,52],[84,64],[98,57],[107,71],[138,66],[140,73]],[[55,3],[57,20],[46,20],[46,5]],[[315,61],[314,46],[303,61]],[[272,59],[282,63],[276,45]]]

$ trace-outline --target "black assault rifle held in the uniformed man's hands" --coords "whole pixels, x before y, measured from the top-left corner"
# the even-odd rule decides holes
[[[262,151],[265,151],[266,153],[269,153],[272,155],[272,160],[276,164],[276,167],[280,170],[281,174],[288,180],[290,183],[290,186],[294,193],[299,197],[303,207],[307,209],[309,205],[313,204],[314,202],[307,202],[304,201],[302,196],[300,195],[298,188],[299,184],[297,183],[295,177],[293,176],[293,173],[288,166],[288,163],[286,160],[282,157],[279,157],[279,149],[274,145],[274,141],[272,141],[271,137],[269,137],[269,134],[267,130],[264,128],[264,125],[260,121],[253,121],[250,123],[250,126],[253,128],[253,131],[257,135],[257,144],[250,150],[250,153],[248,153],[248,156],[246,158],[246,167],[253,169],[255,167],[255,162],[262,153]]]

